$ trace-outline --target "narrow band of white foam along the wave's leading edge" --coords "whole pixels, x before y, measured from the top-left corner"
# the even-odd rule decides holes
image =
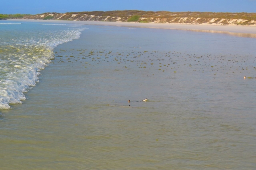
[[[29,58],[29,61],[25,61],[25,63],[30,62],[31,64],[25,65],[24,63],[13,61],[15,63],[13,65],[15,70],[8,73],[4,80],[0,80],[0,109],[10,109],[9,104],[22,103],[21,100],[26,99],[24,93],[28,92],[38,82],[40,70],[44,69],[47,63],[51,62],[50,59],[53,58],[54,47],[78,39],[83,30],[85,29],[73,29],[67,33],[67,38],[56,38],[43,44],[44,50],[38,49],[39,51],[43,51],[39,53],[40,56],[34,55]],[[24,58],[22,57],[22,59]]]

